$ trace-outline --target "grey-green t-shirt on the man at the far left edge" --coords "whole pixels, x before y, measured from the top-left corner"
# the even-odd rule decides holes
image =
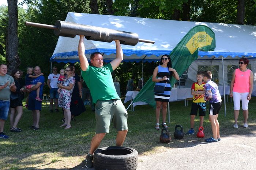
[[[10,82],[7,87],[0,90],[0,100],[9,101],[10,100],[10,85],[14,82],[12,76],[5,74],[4,76],[0,76],[0,86],[3,86],[6,82]]]

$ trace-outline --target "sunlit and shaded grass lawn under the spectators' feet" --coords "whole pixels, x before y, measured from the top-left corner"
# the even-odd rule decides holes
[[[175,126],[183,126],[184,133],[189,129],[189,113],[191,100],[188,106],[184,106],[184,101],[170,103],[170,123],[169,131],[172,141],[169,144],[159,142],[161,130],[155,130],[155,110],[148,105],[136,106],[135,111],[128,111],[128,134],[124,146],[136,149],[140,155],[148,155],[161,152],[161,148],[180,148],[188,145],[188,142],[204,141],[211,137],[211,127],[207,114],[204,121],[205,138],[199,139],[195,135],[185,135],[182,140],[173,137]],[[24,104],[23,104],[24,105]],[[127,107],[129,103],[125,103]],[[238,129],[233,128],[233,103],[226,103],[226,117],[224,116],[224,105],[219,114],[218,120],[221,128],[221,137],[234,134],[255,133],[252,129],[241,128],[243,116],[240,111],[238,118]],[[74,168],[81,164],[90,148],[91,138],[95,134],[95,114],[91,112],[89,106],[87,111],[71,121],[72,128],[64,130],[59,127],[63,117],[61,112],[49,112],[49,107],[43,104],[40,119],[40,129],[33,131],[29,129],[32,123],[31,111],[23,108],[23,115],[18,124],[22,129],[20,133],[10,132],[10,122],[5,122],[4,133],[10,136],[9,139],[0,139],[0,169],[41,169],[41,168]],[[249,102],[248,125],[256,126],[256,98]],[[168,117],[166,118],[168,120]],[[160,122],[162,121],[160,115]],[[195,130],[198,129],[198,116],[195,120]],[[100,147],[115,145],[116,130],[111,127],[110,133],[106,134]],[[180,145],[180,143],[184,145]]]

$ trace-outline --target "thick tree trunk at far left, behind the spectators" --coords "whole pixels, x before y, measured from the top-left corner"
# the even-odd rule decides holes
[[[18,0],[7,0],[8,3],[8,31],[6,38],[6,64],[8,74],[19,67],[18,56]]]

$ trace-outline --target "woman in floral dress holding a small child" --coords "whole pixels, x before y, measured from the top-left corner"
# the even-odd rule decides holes
[[[72,76],[73,67],[68,66],[65,70],[67,76],[65,77],[65,81],[58,84],[58,92],[59,92],[59,107],[62,107],[64,110],[64,118],[65,122],[60,126],[65,126],[64,129],[71,128],[71,112],[70,112],[70,102],[71,96],[74,89],[75,78]]]

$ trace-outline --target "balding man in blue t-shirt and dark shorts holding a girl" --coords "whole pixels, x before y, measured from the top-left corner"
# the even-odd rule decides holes
[[[41,74],[41,68],[39,66],[35,66],[34,75]],[[39,97],[42,99],[43,97],[43,88],[44,88],[45,78],[43,75],[32,79],[31,84],[35,84],[34,87],[30,88],[29,93],[29,110],[32,111],[33,114],[33,125],[31,126],[32,130],[39,129],[39,119],[40,119],[40,111],[42,109],[42,102],[39,102],[35,99],[37,96],[37,89],[40,87]]]

